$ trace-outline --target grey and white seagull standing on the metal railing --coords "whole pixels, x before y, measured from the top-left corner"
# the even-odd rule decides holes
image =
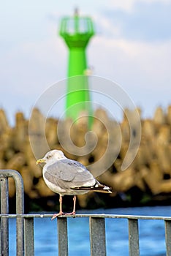
[[[64,156],[61,150],[51,150],[45,157],[37,160],[37,165],[45,163],[42,175],[47,187],[59,194],[59,213],[53,214],[52,219],[61,215],[75,215],[76,195],[83,195],[88,191],[111,193],[111,188],[94,178],[84,165]],[[64,214],[62,211],[62,197],[73,195],[73,211]]]

